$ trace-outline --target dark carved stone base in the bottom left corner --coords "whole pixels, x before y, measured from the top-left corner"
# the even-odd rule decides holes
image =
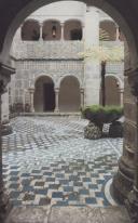
[[[4,220],[9,212],[11,211],[12,206],[10,205],[9,196],[1,191],[0,192],[0,223],[4,223]]]

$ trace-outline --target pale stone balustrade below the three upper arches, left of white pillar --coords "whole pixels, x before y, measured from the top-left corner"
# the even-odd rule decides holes
[[[18,41],[11,55],[16,60],[78,60],[82,51],[82,41]]]

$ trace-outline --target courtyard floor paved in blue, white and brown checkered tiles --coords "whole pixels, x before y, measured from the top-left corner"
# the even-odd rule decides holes
[[[123,139],[86,140],[77,117],[18,117],[2,137],[13,206],[116,206],[110,194]]]

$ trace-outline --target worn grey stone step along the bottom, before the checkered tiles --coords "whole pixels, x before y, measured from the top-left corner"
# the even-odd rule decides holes
[[[107,208],[57,207],[13,208],[5,223],[130,223],[123,206]]]

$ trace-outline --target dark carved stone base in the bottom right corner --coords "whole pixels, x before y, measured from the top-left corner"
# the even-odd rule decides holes
[[[128,194],[125,201],[126,209],[132,219],[132,223],[138,223],[138,192],[135,189]]]

